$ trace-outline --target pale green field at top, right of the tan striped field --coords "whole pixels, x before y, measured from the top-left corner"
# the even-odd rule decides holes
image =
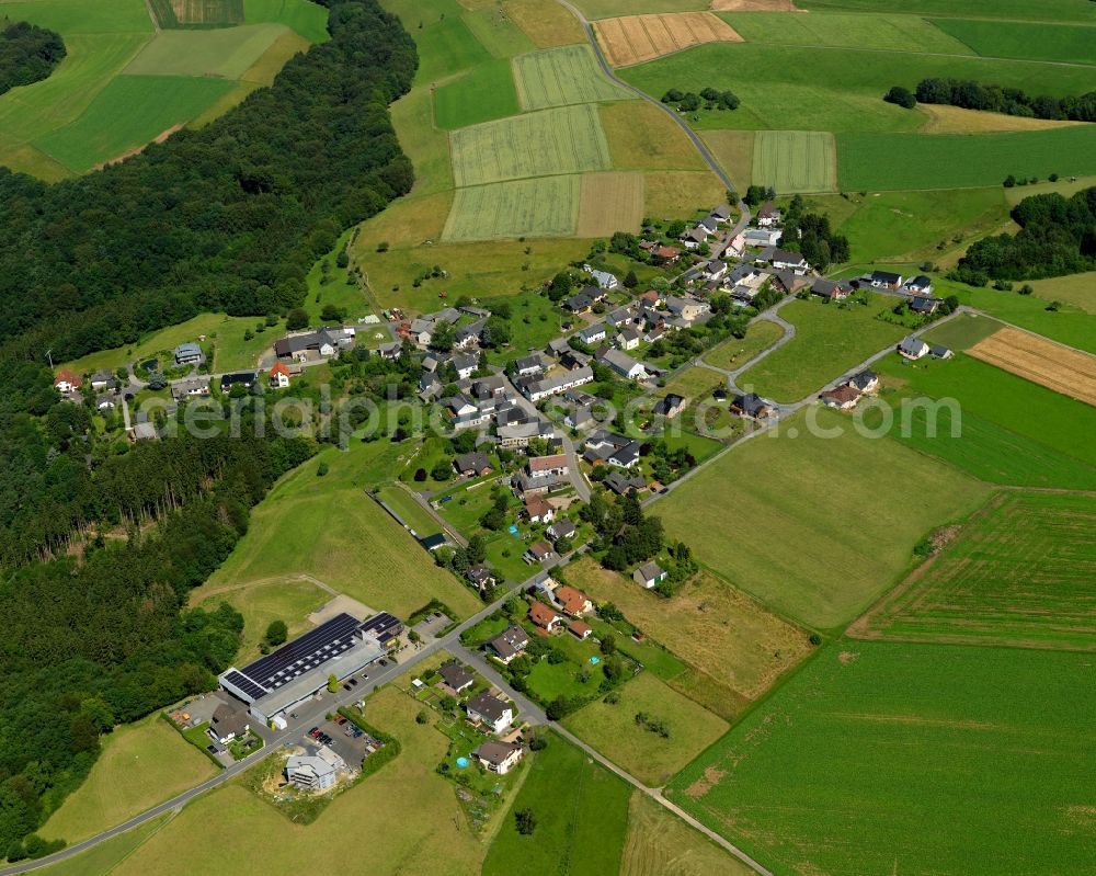
[[[843,14],[819,12],[789,15],[787,12],[723,12],[726,20],[747,43],[799,46],[870,47],[876,50],[924,52],[941,55],[974,55],[972,46],[949,36],[932,22],[916,15]],[[945,33],[945,31],[947,31]]]

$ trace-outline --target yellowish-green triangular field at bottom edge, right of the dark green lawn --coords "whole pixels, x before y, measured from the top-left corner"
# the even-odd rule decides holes
[[[716,873],[753,876],[750,867],[667,812],[643,792],[632,792],[620,876],[711,876]]]

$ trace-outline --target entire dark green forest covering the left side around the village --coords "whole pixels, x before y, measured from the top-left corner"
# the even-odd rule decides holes
[[[284,312],[344,227],[408,191],[387,105],[414,45],[376,0],[324,4],[331,41],[208,127],[55,185],[0,169],[0,856],[49,850],[33,831],[102,732],[215,683],[242,619],[187,593],[315,451],[244,422],[104,457],[42,360]]]

